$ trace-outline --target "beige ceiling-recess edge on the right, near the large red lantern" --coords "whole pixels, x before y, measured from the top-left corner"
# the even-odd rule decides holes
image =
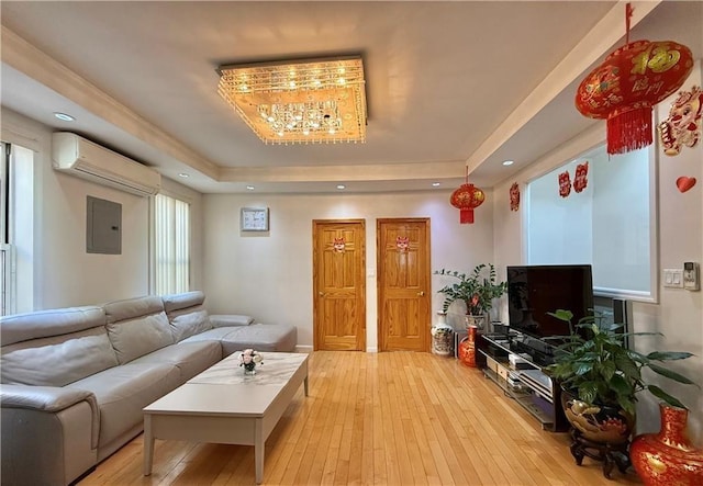
[[[634,29],[635,25],[651,13],[661,1],[663,0],[631,2],[634,7],[631,29]],[[471,154],[466,160],[469,173],[483,163],[625,35],[625,3],[624,1],[618,1]]]

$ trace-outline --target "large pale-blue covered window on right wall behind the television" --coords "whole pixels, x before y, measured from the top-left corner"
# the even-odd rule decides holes
[[[655,150],[580,155],[527,187],[527,262],[590,263],[596,294],[656,302]],[[588,166],[588,185],[573,184]],[[568,172],[568,196],[559,194]],[[574,188],[579,189],[579,192]]]

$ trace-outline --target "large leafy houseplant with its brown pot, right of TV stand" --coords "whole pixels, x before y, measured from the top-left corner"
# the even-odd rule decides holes
[[[648,384],[641,371],[648,368],[676,382],[695,385],[660,364],[693,354],[679,351],[641,354],[628,349],[625,339],[659,332],[621,334],[620,325],[603,323],[598,315],[583,317],[574,328],[570,310],[559,309],[549,315],[569,323],[570,336],[556,347],[555,362],[545,372],[560,384],[565,415],[585,439],[599,443],[626,442],[634,428],[637,393],[641,391],[668,405],[685,408],[659,386]]]

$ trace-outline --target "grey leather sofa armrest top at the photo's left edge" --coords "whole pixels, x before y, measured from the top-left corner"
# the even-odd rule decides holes
[[[100,408],[92,392],[59,386],[0,385],[0,405],[2,408],[26,408],[55,414],[80,402],[90,406],[92,427],[91,443],[98,447],[100,433]]]

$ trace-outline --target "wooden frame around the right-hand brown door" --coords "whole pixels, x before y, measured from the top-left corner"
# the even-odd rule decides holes
[[[427,319],[427,329],[426,337],[429,336],[429,330],[432,328],[432,219],[429,217],[383,217],[376,219],[376,334],[377,334],[377,342],[379,352],[384,348],[386,339],[383,335],[383,327],[381,323],[381,318],[383,317],[383,290],[380,285],[381,278],[381,269],[382,269],[382,251],[381,251],[381,225],[383,223],[399,223],[399,222],[408,222],[408,223],[424,223],[425,230],[427,236],[427,253],[425,257],[425,263],[427,267],[427,293],[425,298],[429,299],[427,308],[429,309],[428,319]],[[425,349],[424,352],[428,352],[431,349],[431,339],[425,339]]]

